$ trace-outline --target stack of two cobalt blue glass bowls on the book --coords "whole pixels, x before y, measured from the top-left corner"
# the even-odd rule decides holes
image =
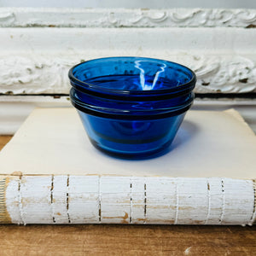
[[[195,73],[171,61],[109,57],[68,73],[70,97],[90,142],[108,154],[162,154],[194,100]]]

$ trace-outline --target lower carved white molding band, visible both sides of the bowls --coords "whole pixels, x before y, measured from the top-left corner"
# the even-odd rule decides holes
[[[95,56],[96,57],[96,56]],[[195,92],[256,92],[256,56],[241,55],[163,55],[183,63],[197,75]],[[81,61],[68,55],[5,55],[0,59],[0,93],[68,94],[68,69]]]

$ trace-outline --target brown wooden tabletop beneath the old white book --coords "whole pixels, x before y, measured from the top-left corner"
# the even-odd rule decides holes
[[[0,137],[0,148],[11,137]],[[1,255],[255,255],[256,226],[0,225]]]

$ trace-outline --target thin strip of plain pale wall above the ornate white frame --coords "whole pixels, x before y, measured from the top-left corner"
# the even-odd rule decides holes
[[[255,0],[0,0],[0,7],[68,8],[245,8],[256,9]]]

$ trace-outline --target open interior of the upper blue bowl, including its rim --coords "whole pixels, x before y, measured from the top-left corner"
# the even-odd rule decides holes
[[[110,57],[85,61],[69,72],[82,90],[117,95],[158,95],[195,87],[195,73],[171,61]]]

